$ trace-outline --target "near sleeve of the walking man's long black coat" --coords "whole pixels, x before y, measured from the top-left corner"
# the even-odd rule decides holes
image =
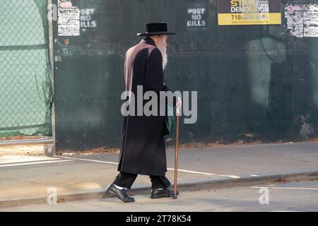
[[[146,63],[146,88],[155,91],[171,91],[163,83],[163,56],[158,48],[154,48],[147,58]],[[173,92],[172,92],[173,93]],[[173,97],[173,106],[176,105],[176,97]]]

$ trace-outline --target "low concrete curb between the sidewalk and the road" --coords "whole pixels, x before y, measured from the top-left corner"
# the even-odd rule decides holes
[[[242,177],[239,179],[220,179],[220,180],[210,180],[204,182],[184,182],[178,184],[179,191],[199,191],[203,189],[224,189],[232,188],[237,186],[252,186],[264,183],[279,183],[281,180],[288,181],[305,181],[318,179],[318,171],[314,172],[300,172],[293,174],[276,174],[276,175],[266,175],[260,177]],[[173,185],[173,184],[172,184]],[[150,194],[150,187],[140,187],[136,189],[131,189],[128,191],[130,195],[145,194],[146,192]],[[57,203],[71,202],[71,201],[82,201],[89,199],[101,199],[103,191],[95,192],[82,192],[77,194],[64,194],[57,197]],[[45,197],[35,197],[35,198],[19,198],[14,200],[0,201],[1,208],[14,208],[18,206],[31,206],[31,205],[41,205],[47,204],[47,196]]]

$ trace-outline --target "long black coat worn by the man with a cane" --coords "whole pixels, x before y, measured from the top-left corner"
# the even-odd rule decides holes
[[[143,85],[143,93],[147,90],[156,93],[169,90],[163,83],[162,54],[151,38],[146,37],[126,52],[124,78],[126,90],[134,93],[136,102],[137,85]],[[165,175],[167,163],[163,123],[163,116],[124,117],[118,167],[120,172]]]

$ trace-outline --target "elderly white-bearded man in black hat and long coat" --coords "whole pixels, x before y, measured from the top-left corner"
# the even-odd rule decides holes
[[[163,83],[163,69],[167,65],[167,35],[174,34],[167,31],[166,23],[149,23],[145,33],[137,34],[146,37],[126,52],[126,91],[136,95],[137,85],[142,85],[144,92],[151,90],[160,93],[169,90]],[[174,97],[173,105],[180,107],[181,98],[178,97],[176,101]],[[160,115],[124,117],[119,174],[107,187],[104,196],[116,196],[124,202],[134,202],[134,198],[129,197],[125,189],[131,189],[138,174],[149,175],[152,183],[151,198],[173,196],[173,191],[167,189],[170,182],[165,177],[167,162],[164,121],[164,116]]]

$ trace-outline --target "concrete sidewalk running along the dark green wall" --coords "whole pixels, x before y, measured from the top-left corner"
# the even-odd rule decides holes
[[[100,198],[117,175],[118,153],[62,155],[0,164],[0,208]],[[167,177],[173,183],[174,150],[167,150]],[[282,143],[179,150],[179,191],[249,186],[286,179],[318,178],[318,143]],[[150,193],[148,176],[130,191]]]

